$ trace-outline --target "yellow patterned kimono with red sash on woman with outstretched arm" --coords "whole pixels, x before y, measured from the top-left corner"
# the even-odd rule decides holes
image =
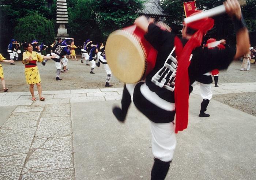
[[[25,59],[32,57],[32,61],[25,62]],[[44,55],[41,55],[35,51],[30,54],[29,51],[23,53],[23,64],[25,64],[25,77],[27,84],[41,83],[40,74],[37,68],[37,61],[42,62]]]

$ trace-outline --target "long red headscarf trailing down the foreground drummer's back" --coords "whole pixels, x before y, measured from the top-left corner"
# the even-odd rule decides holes
[[[198,13],[200,11],[197,11]],[[194,13],[194,14],[196,14]],[[193,15],[193,14],[192,14]],[[214,26],[214,20],[212,18],[204,18],[184,24],[189,28],[197,30],[195,34],[189,39],[184,48],[180,51],[180,48],[176,48],[176,55],[178,60],[178,68],[175,80],[175,106],[176,106],[176,128],[175,133],[182,131],[188,127],[188,97],[189,97],[189,76],[188,67],[190,64],[189,57],[196,47],[201,46],[204,35],[208,30]],[[176,38],[177,39],[177,38]],[[174,41],[176,46],[180,46],[180,41]],[[179,52],[178,52],[179,51]]]

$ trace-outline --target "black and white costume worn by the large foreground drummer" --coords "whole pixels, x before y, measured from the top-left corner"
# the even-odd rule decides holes
[[[150,120],[152,152],[155,157],[151,172],[152,177],[159,166],[167,169],[167,171],[158,172],[158,174],[165,173],[166,175],[176,147],[173,120],[175,116],[174,91],[178,61],[175,54],[174,33],[163,31],[155,24],[150,24],[148,33],[144,37],[158,50],[155,67],[147,75],[145,81],[125,85],[121,108],[114,107],[113,113],[118,120],[124,121],[129,105],[133,101],[136,108]],[[194,83],[197,77],[210,72],[212,69],[227,68],[235,53],[236,51],[228,46],[224,51],[208,51],[197,47],[192,51],[193,56],[188,69],[190,84]],[[189,92],[192,89],[192,86],[189,85]]]

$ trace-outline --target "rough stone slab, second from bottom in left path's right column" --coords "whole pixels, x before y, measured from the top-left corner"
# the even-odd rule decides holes
[[[22,174],[74,167],[72,152],[36,149],[31,152]]]

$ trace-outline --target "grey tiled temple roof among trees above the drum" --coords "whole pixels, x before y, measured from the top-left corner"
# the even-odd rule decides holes
[[[168,17],[169,15],[163,12],[163,9],[159,5],[158,0],[147,0],[143,3],[144,8],[140,11],[141,14],[150,17]]]

